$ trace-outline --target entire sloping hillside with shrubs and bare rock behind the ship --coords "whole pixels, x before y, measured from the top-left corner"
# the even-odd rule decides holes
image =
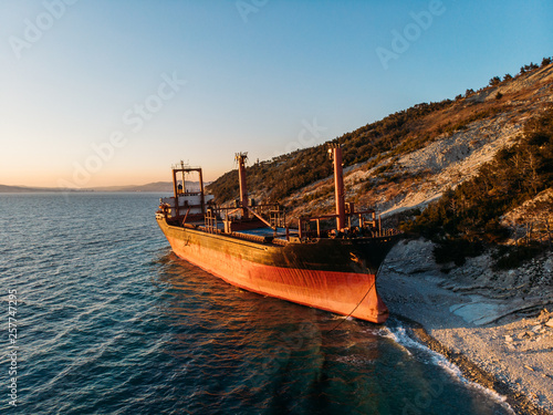
[[[545,58],[479,91],[346,133],[333,139],[344,152],[346,197],[403,220],[444,251],[458,243],[458,262],[482,243],[551,243],[552,96]],[[248,184],[251,197],[280,201],[293,219],[332,211],[331,175],[324,144],[248,167]],[[238,197],[237,176],[229,172],[209,186],[219,203]]]

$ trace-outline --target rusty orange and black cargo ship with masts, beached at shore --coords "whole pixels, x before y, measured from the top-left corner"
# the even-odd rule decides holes
[[[161,198],[156,220],[180,258],[228,283],[259,294],[354,317],[374,323],[389,312],[376,276],[397,240],[383,229],[374,209],[345,203],[342,149],[333,144],[335,214],[286,221],[279,204],[248,197],[247,153],[236,154],[239,199],[215,204],[205,191],[200,167],[173,166],[174,196]],[[199,176],[187,188],[186,175]]]

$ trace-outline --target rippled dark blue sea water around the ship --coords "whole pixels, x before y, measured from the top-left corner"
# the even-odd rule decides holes
[[[510,413],[394,319],[333,330],[178,259],[158,196],[0,195],[0,412]]]

